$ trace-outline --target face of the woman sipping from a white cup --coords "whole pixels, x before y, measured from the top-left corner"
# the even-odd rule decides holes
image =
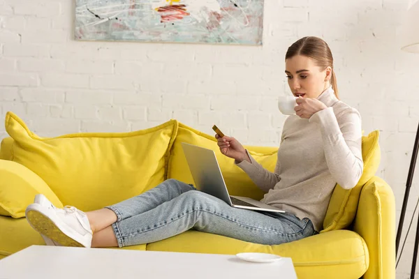
[[[332,68],[323,70],[307,56],[295,55],[286,59],[285,68],[288,85],[296,97],[317,98],[330,86]]]

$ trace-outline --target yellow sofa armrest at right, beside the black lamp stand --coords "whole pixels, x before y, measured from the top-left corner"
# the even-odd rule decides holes
[[[369,269],[364,279],[394,279],[395,274],[395,196],[378,176],[362,188],[354,231],[369,250]]]

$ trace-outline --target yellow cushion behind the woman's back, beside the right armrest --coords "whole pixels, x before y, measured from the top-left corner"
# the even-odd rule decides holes
[[[330,198],[328,211],[323,221],[323,231],[329,232],[334,229],[344,229],[351,225],[358,209],[358,199],[362,186],[374,176],[380,165],[381,153],[378,145],[379,131],[374,130],[369,135],[362,137],[362,160],[364,160],[364,171],[357,185],[344,190],[339,185],[333,190]]]

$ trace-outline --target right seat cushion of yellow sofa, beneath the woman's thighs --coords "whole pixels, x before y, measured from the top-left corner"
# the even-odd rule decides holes
[[[365,241],[355,232],[347,230],[317,234],[275,246],[189,230],[170,239],[149,243],[147,250],[225,255],[239,252],[271,253],[291,257],[299,279],[360,278],[369,266]]]

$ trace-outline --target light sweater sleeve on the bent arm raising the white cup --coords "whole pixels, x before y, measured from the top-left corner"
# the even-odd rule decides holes
[[[316,112],[309,119],[318,123],[323,140],[326,163],[330,174],[344,189],[351,189],[360,180],[362,162],[361,116],[353,108],[339,114],[339,121],[332,107]]]

